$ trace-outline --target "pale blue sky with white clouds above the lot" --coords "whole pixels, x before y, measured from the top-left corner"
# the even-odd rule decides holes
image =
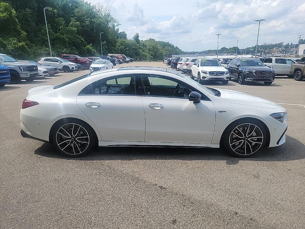
[[[87,0],[93,5],[111,5],[120,31],[140,40],[154,38],[170,42],[183,51],[203,51],[259,44],[297,43],[305,35],[305,0]],[[305,36],[303,36],[305,37]]]

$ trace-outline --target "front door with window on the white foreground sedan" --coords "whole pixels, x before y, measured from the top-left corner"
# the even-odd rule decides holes
[[[212,141],[215,107],[211,101],[188,100],[191,86],[160,75],[142,75],[145,95],[145,142],[204,143]]]

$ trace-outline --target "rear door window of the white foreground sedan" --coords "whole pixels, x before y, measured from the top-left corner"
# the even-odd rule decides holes
[[[101,79],[89,84],[79,94],[135,95],[135,77],[133,75],[120,75]]]

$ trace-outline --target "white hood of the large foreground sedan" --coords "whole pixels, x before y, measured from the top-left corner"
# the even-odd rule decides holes
[[[227,90],[227,89],[218,89],[218,88],[217,90],[220,91],[221,93],[220,97],[222,99],[232,104],[241,104],[241,105],[248,105],[254,107],[271,108],[271,109],[275,109],[279,107],[278,104],[270,100],[262,99],[246,93]]]

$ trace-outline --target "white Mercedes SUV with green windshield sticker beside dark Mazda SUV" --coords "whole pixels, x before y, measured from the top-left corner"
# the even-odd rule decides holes
[[[191,78],[197,78],[201,84],[207,81],[221,81],[222,84],[228,84],[230,76],[228,69],[218,60],[200,58],[191,67]]]

